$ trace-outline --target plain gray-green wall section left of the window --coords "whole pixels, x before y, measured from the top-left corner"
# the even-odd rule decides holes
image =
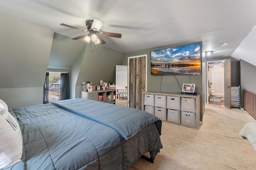
[[[54,31],[0,14],[0,98],[11,108],[42,104]]]

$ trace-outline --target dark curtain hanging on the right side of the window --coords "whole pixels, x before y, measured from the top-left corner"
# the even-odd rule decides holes
[[[68,73],[60,74],[60,97],[59,100],[70,99]]]

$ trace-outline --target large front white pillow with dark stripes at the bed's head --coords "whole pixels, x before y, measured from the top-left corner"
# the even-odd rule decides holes
[[[11,113],[0,107],[0,169],[21,161],[22,134]]]

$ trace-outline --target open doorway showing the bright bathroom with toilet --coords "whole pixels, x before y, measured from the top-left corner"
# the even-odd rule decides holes
[[[224,62],[225,60],[206,62],[206,104],[224,106]]]

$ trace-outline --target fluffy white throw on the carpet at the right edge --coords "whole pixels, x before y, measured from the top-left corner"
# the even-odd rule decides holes
[[[256,150],[256,123],[246,123],[239,136],[243,139],[248,139],[254,150]]]

